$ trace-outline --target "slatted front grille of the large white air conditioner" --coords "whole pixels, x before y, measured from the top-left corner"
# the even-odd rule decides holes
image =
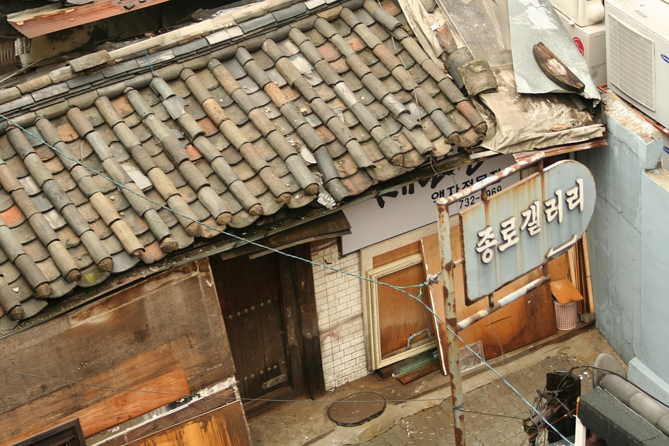
[[[626,26],[614,15],[608,15],[606,20],[609,82],[633,100],[655,111],[653,41]]]

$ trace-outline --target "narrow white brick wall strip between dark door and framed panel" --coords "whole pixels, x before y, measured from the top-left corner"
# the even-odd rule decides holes
[[[360,275],[360,253],[339,257],[337,243],[331,240],[312,245],[312,260]],[[325,388],[332,389],[368,373],[362,327],[362,284],[357,277],[314,266],[314,286]]]

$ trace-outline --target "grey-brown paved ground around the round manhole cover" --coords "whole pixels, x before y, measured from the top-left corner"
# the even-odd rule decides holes
[[[615,356],[594,325],[558,332],[536,345],[527,346],[490,361],[509,384],[529,401],[546,384],[548,371],[593,364],[599,353]],[[592,388],[592,371],[582,376],[581,392]],[[377,392],[387,406],[383,414],[360,426],[337,426],[328,418],[332,403],[357,392]],[[529,408],[521,397],[487,368],[463,375],[466,444],[514,446],[525,439],[522,419]],[[449,379],[436,371],[402,385],[393,378],[366,376],[327,392],[316,401],[285,403],[249,420],[252,443],[286,445],[454,445]]]

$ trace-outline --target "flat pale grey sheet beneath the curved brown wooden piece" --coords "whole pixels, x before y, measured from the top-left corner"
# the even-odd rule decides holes
[[[543,42],[585,84],[584,98],[599,100],[587,63],[549,0],[509,0],[509,25],[518,93],[567,93],[541,71],[532,47]]]

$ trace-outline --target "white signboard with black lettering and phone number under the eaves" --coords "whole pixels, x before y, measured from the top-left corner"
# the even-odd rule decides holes
[[[488,158],[344,209],[344,215],[351,224],[351,234],[341,238],[343,253],[348,254],[436,222],[436,199],[449,197],[515,162],[513,155]],[[500,192],[519,178],[520,174],[505,178],[491,187],[489,194]],[[449,212],[458,213],[478,203],[480,199],[480,196],[463,199],[451,206]]]

